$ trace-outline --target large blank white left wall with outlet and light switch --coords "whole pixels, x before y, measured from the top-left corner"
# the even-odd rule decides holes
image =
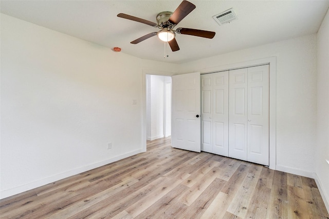
[[[1,198],[143,151],[157,66],[1,14]]]

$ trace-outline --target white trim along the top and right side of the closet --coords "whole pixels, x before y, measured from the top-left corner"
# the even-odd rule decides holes
[[[209,74],[220,71],[228,71],[233,69],[248,68],[259,65],[269,64],[269,168],[277,169],[277,130],[276,130],[276,109],[277,109],[277,57],[267,57],[246,61],[241,63],[233,63],[223,66],[216,66],[200,70],[200,74]]]

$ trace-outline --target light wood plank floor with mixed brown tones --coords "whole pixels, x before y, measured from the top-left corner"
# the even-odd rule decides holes
[[[170,141],[5,198],[1,218],[329,218],[311,178]]]

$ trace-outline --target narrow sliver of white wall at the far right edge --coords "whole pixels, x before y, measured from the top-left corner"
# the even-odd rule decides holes
[[[329,211],[329,11],[317,34],[317,83],[315,172]]]

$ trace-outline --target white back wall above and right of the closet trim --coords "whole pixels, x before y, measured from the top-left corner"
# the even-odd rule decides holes
[[[316,35],[200,59],[181,73],[277,57],[276,168],[305,176],[314,173],[316,147]]]

